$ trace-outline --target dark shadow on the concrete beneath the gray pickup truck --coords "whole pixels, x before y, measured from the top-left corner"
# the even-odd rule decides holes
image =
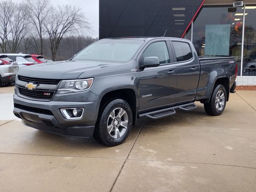
[[[37,130],[33,137],[32,137],[32,143],[33,148],[40,148],[40,151],[52,151],[52,152],[60,152],[63,151],[70,151],[72,154],[77,152],[90,152],[92,154],[96,153],[97,151],[108,152],[113,151],[113,148],[129,148],[133,145],[134,140],[138,136],[138,133],[140,132],[141,127],[142,132],[147,130],[147,134],[155,134],[157,132],[158,128],[162,127],[177,127],[182,126],[182,124],[188,124],[192,123],[193,121],[197,119],[204,120],[204,118],[208,116],[204,112],[203,106],[198,106],[195,110],[184,112],[181,110],[177,110],[176,115],[169,116],[166,118],[162,118],[159,120],[145,120],[142,122],[139,126],[133,126],[130,135],[128,136],[127,140],[115,147],[108,147],[104,146],[100,143],[98,143],[93,138],[78,138],[78,137],[72,137],[72,136],[61,136],[57,134],[52,134],[49,132]],[[148,131],[150,130],[150,131]],[[30,147],[30,146],[28,146]],[[66,152],[64,154],[66,154]],[[63,153],[62,153],[63,154]],[[79,154],[79,153],[78,153]],[[80,153],[81,154],[81,153]],[[79,155],[78,155],[79,156]]]

